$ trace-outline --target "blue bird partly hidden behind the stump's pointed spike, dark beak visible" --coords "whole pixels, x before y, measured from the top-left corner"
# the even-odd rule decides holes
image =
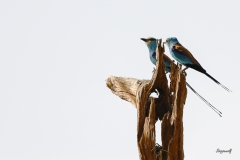
[[[156,59],[156,49],[157,49],[157,39],[153,38],[153,37],[149,37],[149,38],[141,38],[141,40],[143,40],[147,47],[148,47],[148,51],[149,51],[149,58],[151,60],[151,62],[156,65],[157,59]],[[171,71],[171,64],[174,65],[174,67],[176,66],[174,63],[172,63],[172,60],[166,55],[163,54],[163,61],[165,64],[165,71],[166,73]],[[215,108],[211,103],[209,103],[206,99],[204,99],[200,94],[198,94],[197,91],[195,91],[191,85],[189,83],[186,82],[186,85],[188,88],[190,88],[194,94],[196,94],[201,100],[203,100],[210,108],[212,108],[220,117],[221,116],[221,112]]]

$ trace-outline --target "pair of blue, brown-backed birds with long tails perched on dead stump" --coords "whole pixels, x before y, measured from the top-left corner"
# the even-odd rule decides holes
[[[141,40],[143,40],[149,50],[149,56],[150,56],[150,60],[151,62],[156,65],[157,59],[156,59],[156,49],[157,49],[157,39],[155,38],[141,38]],[[164,42],[165,44],[167,44],[170,54],[171,56],[180,64],[186,66],[186,68],[184,70],[186,70],[187,68],[192,68],[195,69],[203,74],[205,74],[206,76],[208,76],[210,79],[212,79],[215,83],[217,83],[218,85],[220,85],[221,87],[223,87],[225,90],[231,92],[231,90],[229,90],[227,87],[225,87],[224,85],[222,85],[220,82],[218,82],[215,78],[213,78],[211,75],[209,75],[205,69],[203,69],[203,67],[200,65],[200,63],[193,57],[193,55],[185,48],[183,47],[177,40],[177,38],[175,37],[170,37],[167,38],[166,42]],[[167,55],[163,55],[163,60],[165,63],[165,71],[166,72],[170,72],[171,69],[171,59],[167,56]],[[201,98],[209,107],[211,107],[216,113],[218,113],[218,115],[221,116],[221,112],[219,110],[217,110],[214,106],[212,106],[208,101],[206,101],[201,95],[199,95],[187,82],[186,85],[199,97]]]

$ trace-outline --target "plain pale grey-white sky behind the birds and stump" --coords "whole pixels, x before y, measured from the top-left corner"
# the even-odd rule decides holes
[[[138,160],[137,111],[105,80],[151,79],[149,36],[177,37],[233,91],[187,70],[223,117],[188,90],[185,160],[240,159],[239,21],[237,0],[0,1],[0,159]]]

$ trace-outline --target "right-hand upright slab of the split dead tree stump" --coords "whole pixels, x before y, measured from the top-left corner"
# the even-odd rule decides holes
[[[185,75],[181,66],[171,69],[170,99],[172,112],[164,115],[162,120],[162,160],[183,160],[183,107],[187,89]]]

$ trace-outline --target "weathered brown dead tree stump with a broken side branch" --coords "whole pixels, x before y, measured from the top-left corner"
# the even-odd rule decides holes
[[[163,62],[162,40],[157,47],[156,70],[151,80],[110,76],[107,86],[137,108],[137,143],[141,160],[183,160],[183,106],[187,89],[181,65],[171,68],[170,87]],[[172,62],[173,63],[173,62]],[[157,92],[158,97],[150,97]],[[156,146],[155,123],[162,121],[162,146]]]

